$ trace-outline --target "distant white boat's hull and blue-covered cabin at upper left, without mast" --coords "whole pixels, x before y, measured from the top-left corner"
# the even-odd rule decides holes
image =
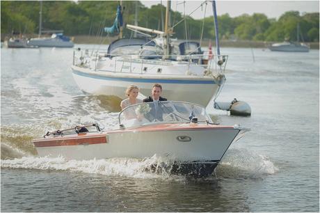
[[[28,41],[29,46],[38,47],[73,47],[74,43],[62,33],[53,33],[51,37],[31,38]]]

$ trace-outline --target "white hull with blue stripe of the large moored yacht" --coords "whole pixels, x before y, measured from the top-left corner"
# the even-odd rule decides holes
[[[163,87],[163,97],[168,100],[195,102],[207,106],[215,98],[225,81],[224,75],[213,77],[197,76],[159,76],[154,74],[95,72],[72,66],[74,81],[83,92],[93,95],[115,95],[127,98],[125,90],[130,84],[136,84],[140,93],[149,95],[152,85],[159,83]]]

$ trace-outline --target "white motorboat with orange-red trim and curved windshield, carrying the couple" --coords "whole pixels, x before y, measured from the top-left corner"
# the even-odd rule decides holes
[[[123,109],[118,119],[118,129],[77,126],[47,132],[33,144],[40,157],[143,160],[156,155],[170,159],[170,165],[151,165],[151,171],[161,167],[172,174],[205,177],[214,172],[231,143],[248,130],[212,123],[204,107],[189,102],[135,104]]]

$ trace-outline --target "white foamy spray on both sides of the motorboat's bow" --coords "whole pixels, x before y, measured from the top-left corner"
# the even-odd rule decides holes
[[[278,171],[278,168],[269,159],[261,155],[252,155],[243,150],[229,150],[228,152],[230,153],[227,153],[216,169],[216,178],[262,178],[264,175]],[[154,165],[161,166],[154,168]],[[169,175],[170,165],[173,165],[172,159],[157,155],[145,159],[113,158],[80,161],[63,157],[29,156],[1,160],[1,168],[66,171],[141,179],[184,180],[182,175]]]

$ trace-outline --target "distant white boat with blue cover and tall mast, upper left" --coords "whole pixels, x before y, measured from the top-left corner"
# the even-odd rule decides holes
[[[51,37],[41,38],[42,33],[53,33]],[[39,36],[31,38],[27,45],[38,47],[73,47],[74,43],[67,36],[63,36],[63,31],[42,31],[42,1],[40,1]]]

